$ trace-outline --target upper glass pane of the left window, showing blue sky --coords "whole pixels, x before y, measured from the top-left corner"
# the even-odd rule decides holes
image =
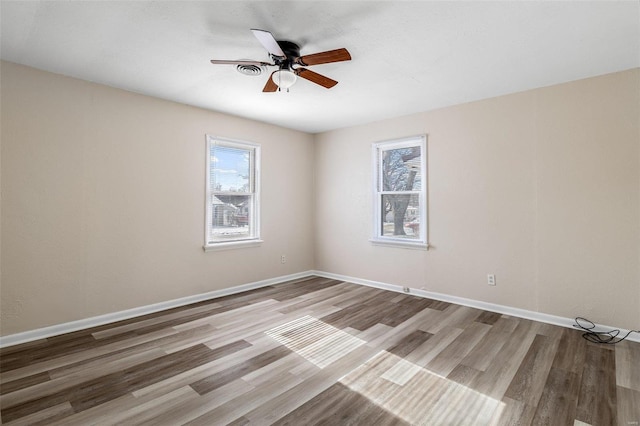
[[[251,151],[211,144],[211,190],[251,192]]]

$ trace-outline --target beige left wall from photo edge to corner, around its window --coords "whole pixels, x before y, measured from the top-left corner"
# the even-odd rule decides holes
[[[313,136],[1,66],[2,335],[313,269]],[[261,247],[203,252],[206,133],[262,144]]]

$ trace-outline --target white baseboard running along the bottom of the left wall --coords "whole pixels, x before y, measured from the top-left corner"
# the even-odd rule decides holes
[[[20,343],[32,342],[34,340],[44,339],[60,334],[71,333],[73,331],[85,330],[87,328],[99,325],[109,324],[116,321],[122,321],[129,318],[139,317],[142,315],[152,314],[154,312],[164,311],[179,306],[189,305],[192,303],[202,302],[204,300],[215,299],[217,297],[228,296],[230,294],[242,293],[244,291],[256,288],[267,287],[270,285],[281,284],[291,280],[307,278],[312,276],[312,271],[299,272],[297,274],[285,275],[276,278],[270,278],[262,281],[256,281],[249,284],[243,284],[235,287],[214,290],[207,293],[196,294],[194,296],[182,297],[180,299],[168,300],[166,302],[154,303],[152,305],[141,306],[138,308],[127,309],[125,311],[113,312],[110,314],[99,315],[96,317],[85,318],[77,321],[71,321],[64,324],[56,324],[49,327],[43,327],[36,330],[25,331],[23,333],[10,334],[0,337],[0,348],[18,345]]]

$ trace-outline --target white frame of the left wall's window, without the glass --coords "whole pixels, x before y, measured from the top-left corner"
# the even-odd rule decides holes
[[[243,236],[237,239],[213,240],[210,238],[213,228],[213,203],[214,193],[224,194],[211,188],[211,167],[214,165],[211,161],[211,147],[218,145],[222,147],[237,148],[250,151],[250,183],[249,187],[252,191],[243,193],[252,198],[252,217],[249,217],[249,236]],[[252,142],[237,141],[227,138],[221,138],[212,135],[206,135],[206,173],[205,173],[205,234],[204,234],[204,251],[227,250],[244,247],[258,246],[263,241],[260,239],[260,145]],[[233,193],[228,193],[233,194]]]

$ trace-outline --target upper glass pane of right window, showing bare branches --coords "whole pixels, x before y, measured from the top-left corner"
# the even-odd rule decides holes
[[[419,191],[422,187],[419,146],[382,151],[382,190]]]

